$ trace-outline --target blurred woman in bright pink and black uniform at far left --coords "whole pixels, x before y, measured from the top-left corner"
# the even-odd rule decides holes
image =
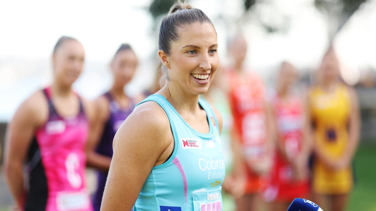
[[[21,210],[92,210],[85,184],[85,143],[93,109],[71,89],[83,60],[80,42],[60,38],[52,56],[51,86],[26,99],[8,127],[6,178]]]

